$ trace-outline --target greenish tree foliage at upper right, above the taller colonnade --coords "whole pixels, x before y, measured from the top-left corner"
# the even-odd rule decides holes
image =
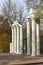
[[[25,0],[25,3],[28,12],[29,9],[33,7],[37,10],[37,15],[39,16],[39,18],[43,18],[43,0]]]

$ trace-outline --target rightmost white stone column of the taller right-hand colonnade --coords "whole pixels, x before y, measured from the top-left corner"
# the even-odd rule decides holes
[[[40,24],[36,23],[36,55],[40,55],[40,34],[39,34]]]

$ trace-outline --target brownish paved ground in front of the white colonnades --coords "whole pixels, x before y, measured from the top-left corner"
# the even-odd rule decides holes
[[[31,63],[42,63],[43,57],[32,57],[27,55],[0,54],[0,65],[21,65]]]

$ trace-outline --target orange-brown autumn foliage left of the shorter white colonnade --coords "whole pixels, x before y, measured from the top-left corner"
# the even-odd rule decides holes
[[[9,52],[11,42],[11,28],[7,21],[0,26],[0,52]]]

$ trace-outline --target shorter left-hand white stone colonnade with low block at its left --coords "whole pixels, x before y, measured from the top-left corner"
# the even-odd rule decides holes
[[[23,53],[22,39],[22,25],[20,25],[17,21],[14,21],[12,25],[12,43],[10,43],[10,53]]]

